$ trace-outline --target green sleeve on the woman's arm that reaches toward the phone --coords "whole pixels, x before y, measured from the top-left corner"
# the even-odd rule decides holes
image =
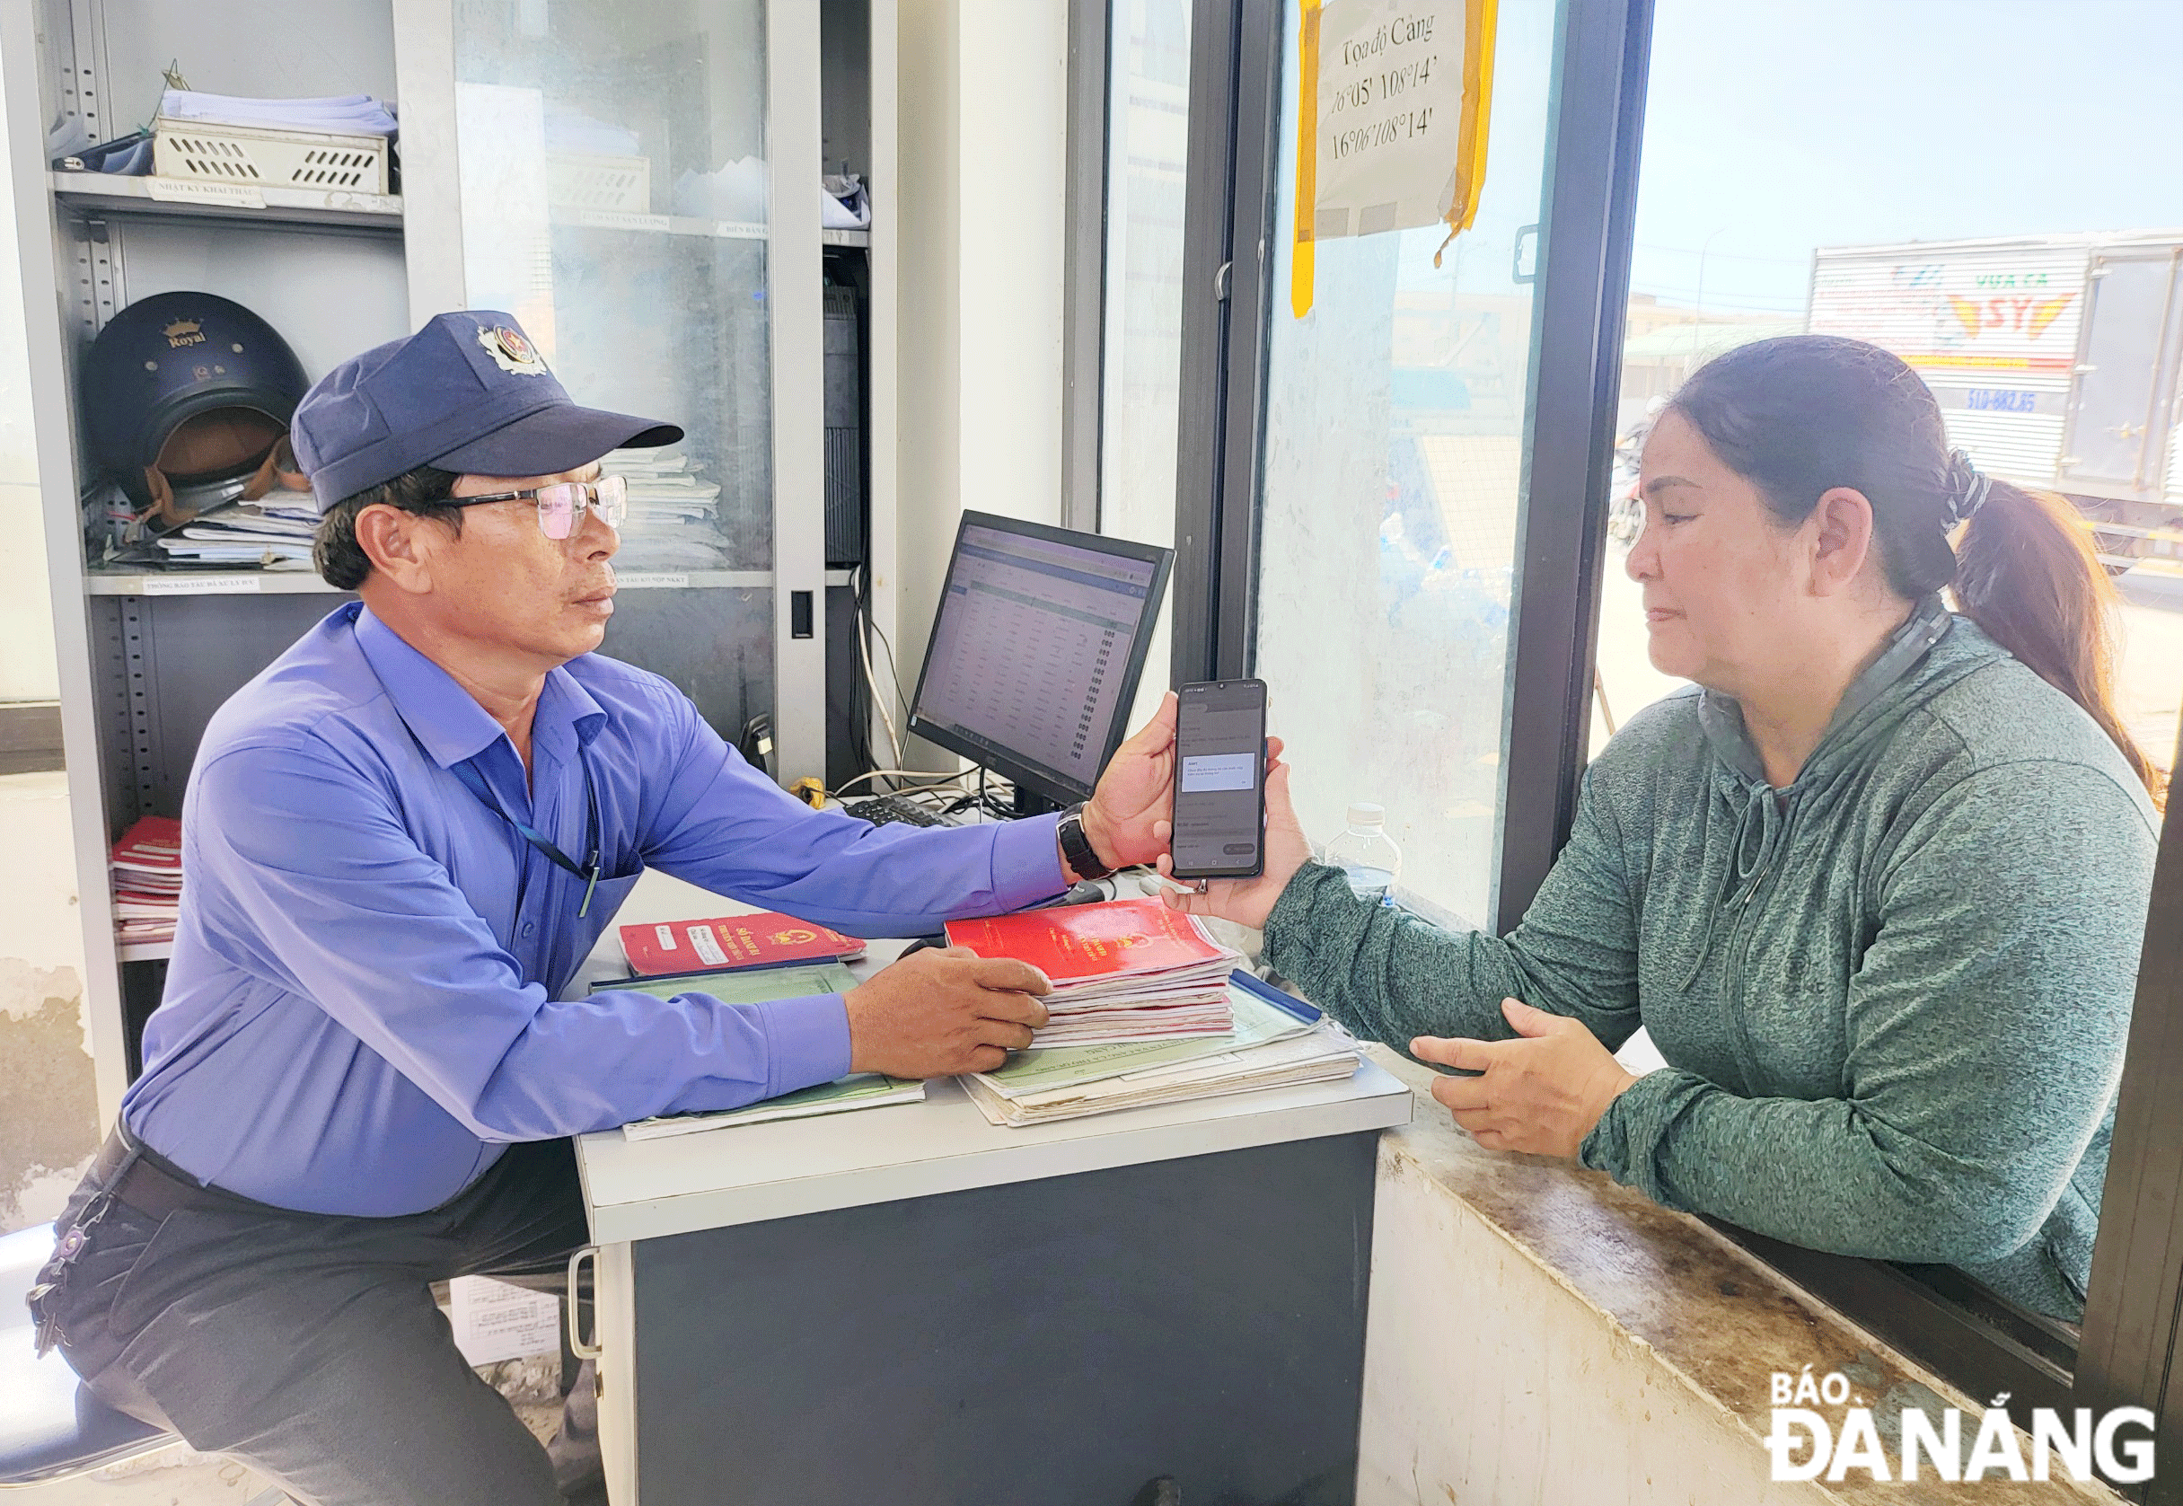
[[[1567,847],[1506,939],[1364,904],[1338,869],[1305,864],[1266,917],[1266,960],[1360,1037],[1397,1048],[1511,1037],[1506,997],[1583,1019],[1609,1050],[1637,1030],[1635,901],[1591,777]]]

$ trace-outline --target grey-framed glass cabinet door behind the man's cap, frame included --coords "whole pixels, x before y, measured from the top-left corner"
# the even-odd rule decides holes
[[[506,310],[576,402],[685,430],[607,458],[605,653],[788,779],[825,762],[825,419],[819,41],[779,4],[397,0],[397,41],[413,319]]]

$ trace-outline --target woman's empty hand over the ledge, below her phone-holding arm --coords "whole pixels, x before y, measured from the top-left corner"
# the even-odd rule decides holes
[[[1487,1150],[1574,1157],[1607,1104],[1637,1078],[1622,1069],[1580,1019],[1502,1000],[1515,1041],[1465,1041],[1421,1035],[1410,1054],[1443,1067],[1482,1072],[1441,1078],[1432,1096]]]

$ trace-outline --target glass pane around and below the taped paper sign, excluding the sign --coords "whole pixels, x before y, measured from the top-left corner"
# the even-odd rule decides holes
[[[1290,303],[1299,17],[1288,4],[1255,670],[1305,832],[1386,805],[1397,891],[1484,923],[1554,7],[1500,4],[1476,223],[1319,240]],[[1450,162],[1454,133],[1450,131]],[[1524,242],[1519,247],[1519,242]]]

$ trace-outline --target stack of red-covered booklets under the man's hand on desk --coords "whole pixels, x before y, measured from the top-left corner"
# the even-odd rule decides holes
[[[1194,915],[1159,899],[947,921],[947,941],[1030,963],[1054,984],[1033,1050],[1227,1035],[1227,976],[1242,963]]]

